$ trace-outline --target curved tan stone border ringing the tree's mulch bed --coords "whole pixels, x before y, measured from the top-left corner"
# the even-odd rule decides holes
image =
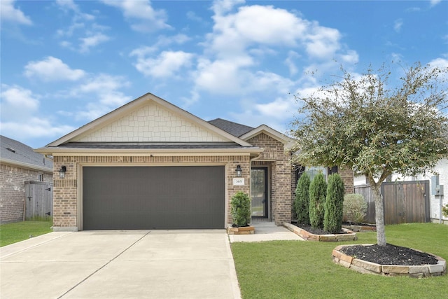
[[[367,262],[367,260],[360,260],[353,256],[347,256],[340,250],[346,246],[370,246],[373,244],[356,244],[356,245],[339,245],[332,251],[333,262],[355,270],[360,273],[377,274],[383,276],[408,276],[408,277],[432,277],[440,276],[447,273],[447,262],[440,256],[431,256],[437,258],[438,262],[435,265],[379,265],[377,263]],[[416,249],[414,249],[416,250]],[[416,250],[419,251],[419,250]],[[423,251],[420,251],[423,252]]]

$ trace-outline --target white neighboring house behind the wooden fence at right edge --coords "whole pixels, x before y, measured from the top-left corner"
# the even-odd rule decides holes
[[[430,172],[426,172],[424,174],[419,174],[417,176],[402,176],[400,174],[392,174],[392,176],[387,181],[429,181],[429,216],[431,221],[433,222],[440,222],[440,216],[442,216],[442,221],[444,223],[448,223],[448,218],[443,216],[440,213],[440,200],[442,199],[442,204],[448,204],[448,159],[442,158],[437,162],[437,165],[435,165],[434,168],[435,172],[439,175],[439,184],[444,186],[444,196],[435,196],[431,194],[431,190],[433,188],[431,177],[434,176],[434,174]],[[360,186],[367,183],[365,176],[356,176],[354,178],[354,185]]]

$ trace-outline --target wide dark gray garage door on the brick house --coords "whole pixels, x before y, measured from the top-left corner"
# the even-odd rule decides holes
[[[224,228],[223,166],[83,167],[83,229]]]

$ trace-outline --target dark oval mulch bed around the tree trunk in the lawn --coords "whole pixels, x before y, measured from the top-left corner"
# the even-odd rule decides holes
[[[428,253],[423,253],[407,247],[386,244],[378,246],[355,245],[342,247],[340,251],[347,256],[353,256],[360,260],[367,260],[380,265],[435,265],[437,258]]]

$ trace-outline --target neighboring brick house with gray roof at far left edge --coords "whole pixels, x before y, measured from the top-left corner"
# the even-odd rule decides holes
[[[52,182],[52,160],[19,141],[0,135],[0,221],[25,218],[25,181]]]

